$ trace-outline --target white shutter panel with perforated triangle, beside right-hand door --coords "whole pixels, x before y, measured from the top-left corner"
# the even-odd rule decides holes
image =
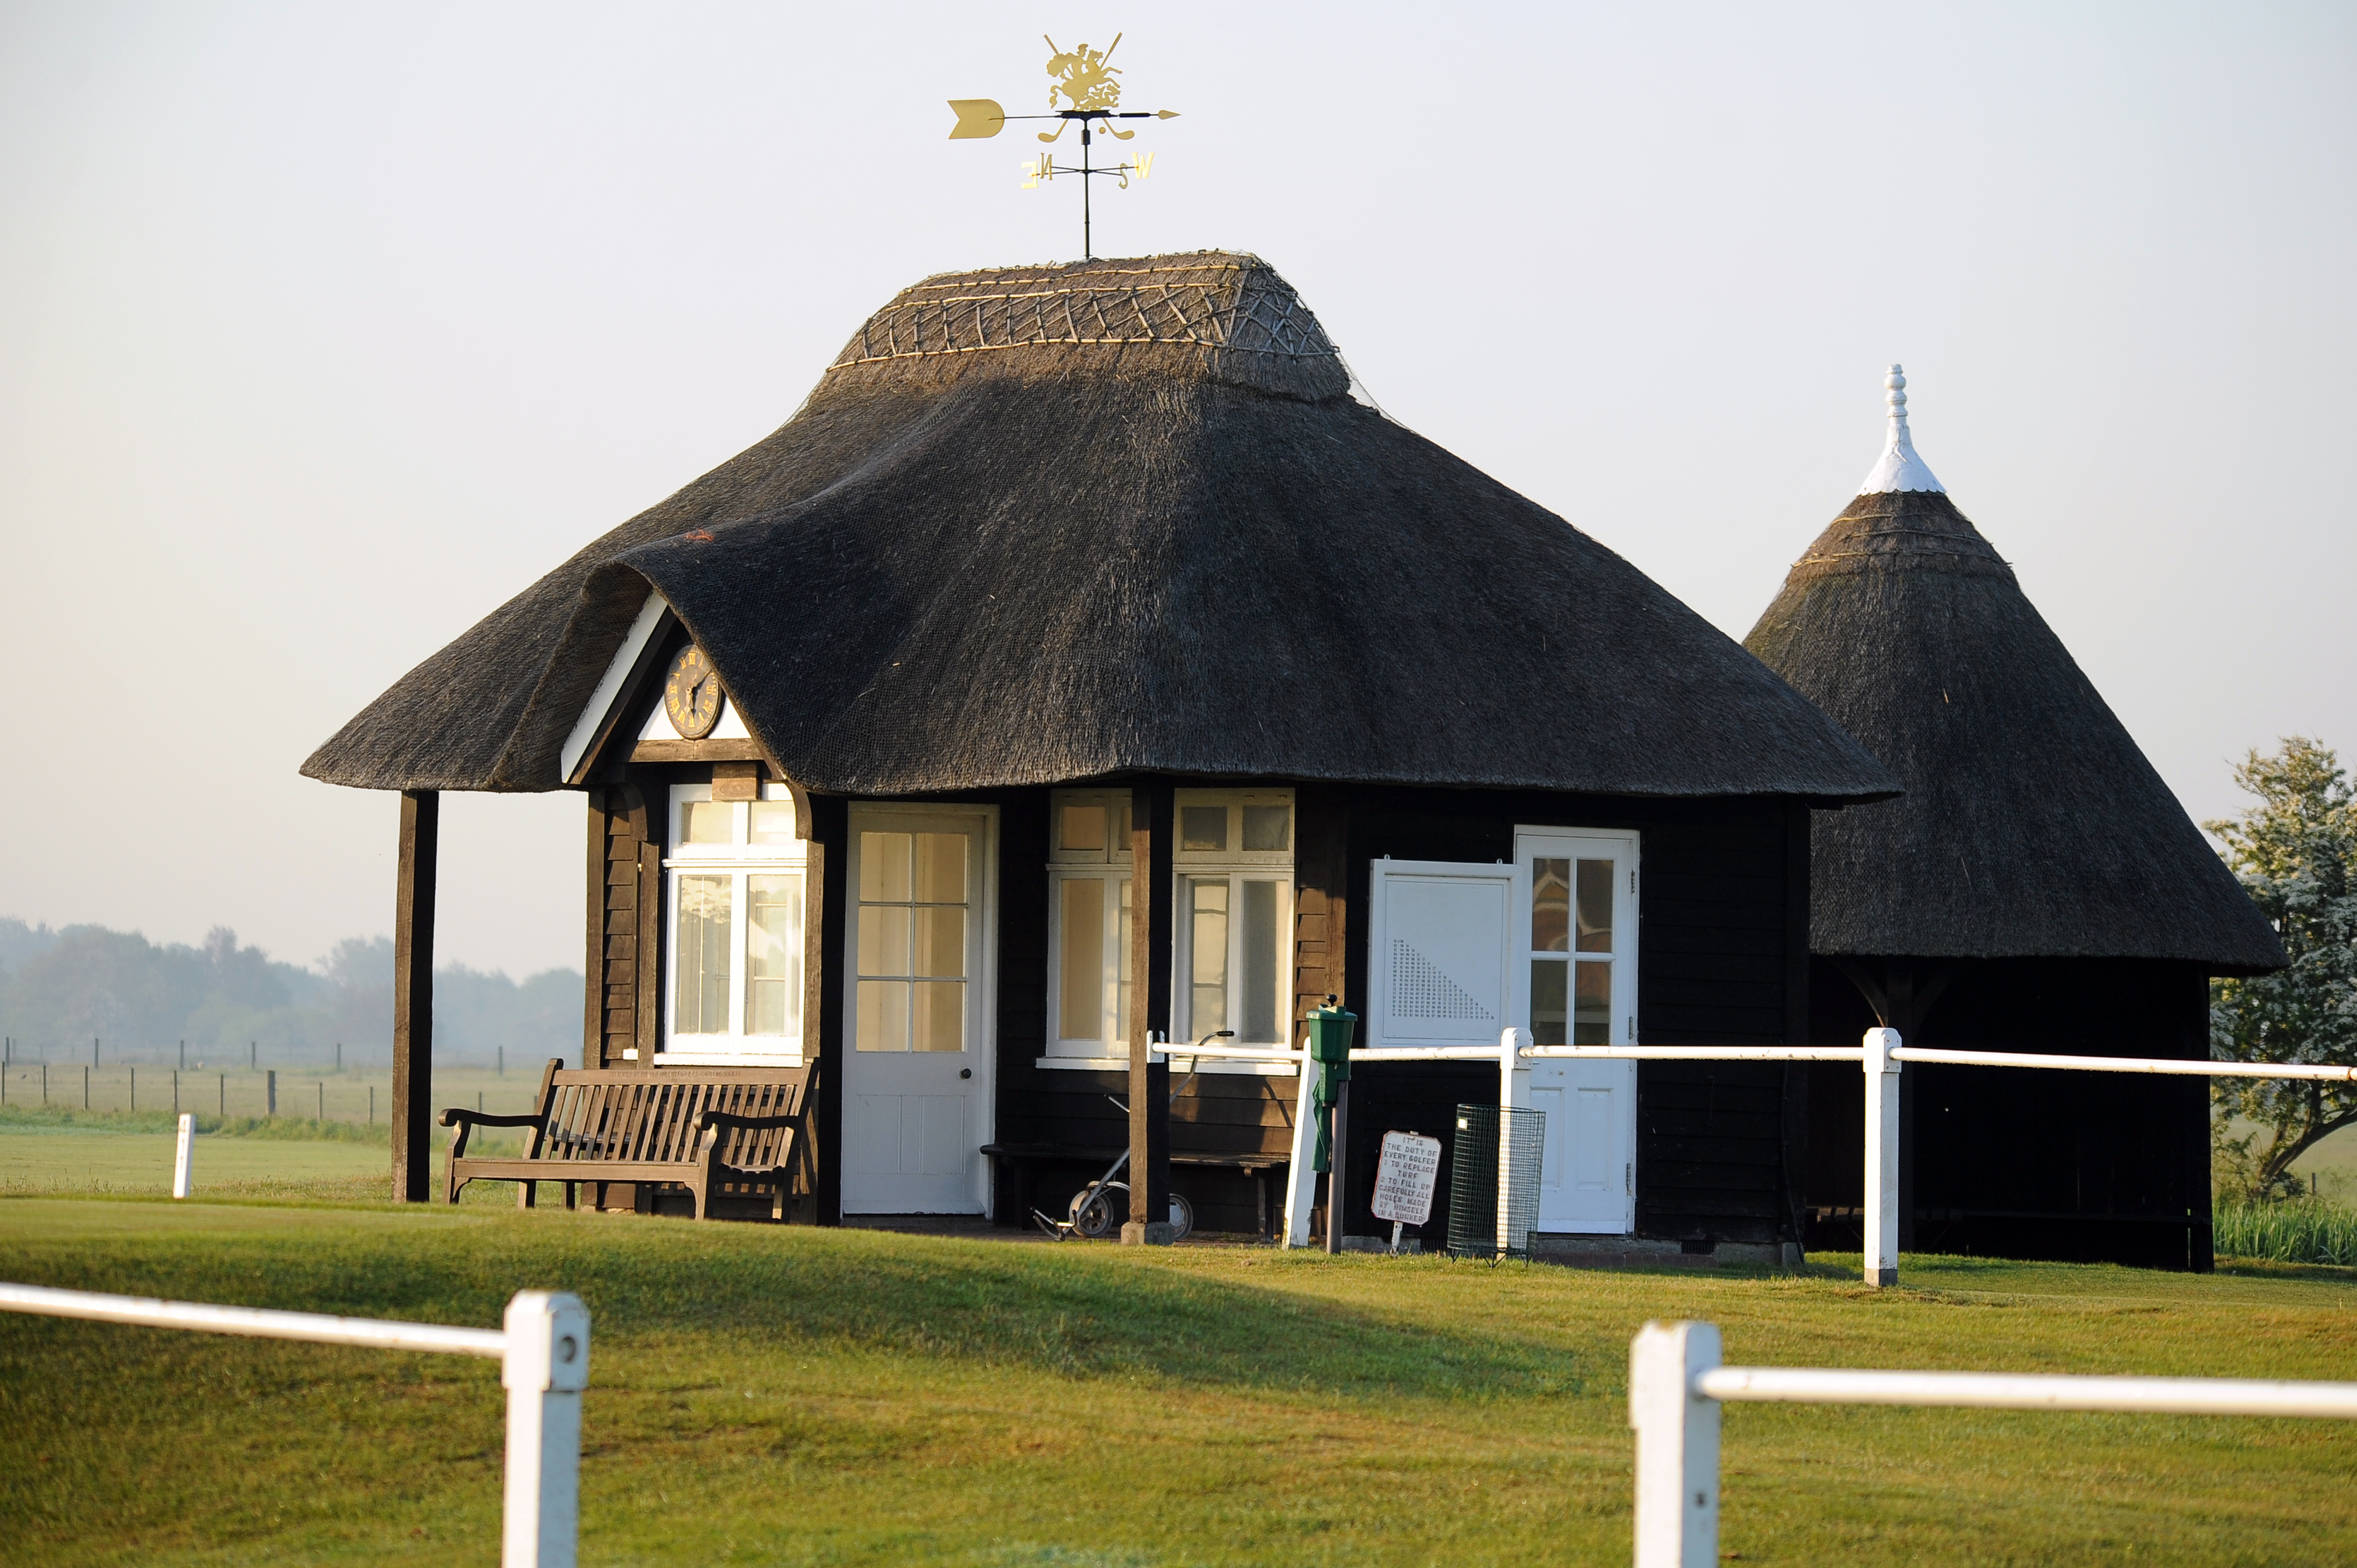
[[[1374,861],[1367,1045],[1497,1049],[1513,1007],[1513,865]]]

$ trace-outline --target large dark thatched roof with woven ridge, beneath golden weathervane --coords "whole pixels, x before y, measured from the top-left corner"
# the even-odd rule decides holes
[[[502,606],[304,771],[556,788],[651,585],[816,790],[1131,769],[1895,788],[1617,554],[1353,401],[1318,321],[1244,255],[905,290],[783,429]]]

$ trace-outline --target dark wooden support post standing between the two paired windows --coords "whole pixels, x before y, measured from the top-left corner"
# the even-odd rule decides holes
[[[1171,788],[1129,792],[1129,1224],[1122,1240],[1171,1243]]]

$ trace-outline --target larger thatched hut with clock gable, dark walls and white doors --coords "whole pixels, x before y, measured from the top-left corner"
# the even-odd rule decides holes
[[[1473,1040],[1365,1078],[1360,1174],[1386,1127],[1450,1137],[1499,1089],[1506,1026],[1794,1040],[1810,809],[1897,792],[1629,561],[1353,396],[1285,278],[1226,252],[903,290],[785,427],[304,771],[415,797],[401,1170],[429,1146],[434,792],[573,788],[592,1070],[806,1075],[820,1219],[1061,1214],[1127,1137],[1138,1212],[1178,1162],[1211,1228],[1270,1224],[1273,1170],[1308,1219],[1296,1080],[1233,1063],[1174,1120],[1153,1040],[1287,1045],[1329,995],[1362,1040]],[[1586,1172],[1539,1231],[1794,1245],[1787,1087],[1534,1066],[1534,1103],[1582,1096],[1546,1158]],[[1329,1238],[1369,1195],[1327,1188]]]

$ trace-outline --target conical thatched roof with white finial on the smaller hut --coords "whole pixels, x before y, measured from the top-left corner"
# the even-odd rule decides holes
[[[1970,519],[1893,436],[1744,646],[1907,785],[1820,813],[1810,950],[2275,969],[2258,908]]]

